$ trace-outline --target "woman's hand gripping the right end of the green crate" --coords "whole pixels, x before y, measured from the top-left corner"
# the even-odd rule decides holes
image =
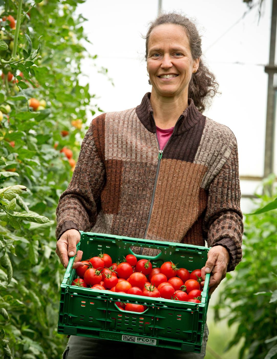
[[[209,250],[205,267],[201,269],[201,277],[204,281],[206,273],[211,273],[209,281],[209,295],[215,291],[221,280],[226,277],[229,260],[229,252],[225,247],[215,246]],[[204,281],[201,282],[201,286],[204,286]]]

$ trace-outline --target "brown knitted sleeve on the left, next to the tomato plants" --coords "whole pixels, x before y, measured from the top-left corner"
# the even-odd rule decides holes
[[[100,116],[99,116],[100,117]],[[81,145],[80,154],[67,189],[56,209],[57,240],[68,229],[90,231],[96,222],[101,190],[105,184],[105,165],[95,145],[92,120]]]

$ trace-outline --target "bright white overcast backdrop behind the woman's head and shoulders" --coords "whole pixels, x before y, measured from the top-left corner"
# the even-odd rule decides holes
[[[268,80],[264,65],[269,57],[271,3],[264,0],[258,23],[257,7],[243,17],[248,11],[243,0],[162,0],[163,10],[182,11],[196,19],[204,61],[222,92],[204,115],[230,127],[237,137],[240,176],[263,176]],[[88,19],[83,27],[93,43],[86,43],[86,48],[97,54],[97,65],[108,69],[108,76],[103,76],[97,73],[95,61],[83,61],[82,72],[88,77],[81,84],[89,81],[90,93],[97,95],[95,103],[105,112],[135,107],[151,91],[140,34],[146,34],[157,10],[158,0],[87,0],[78,6],[77,13]],[[243,194],[253,194],[257,185],[240,182]],[[241,205],[245,213],[252,207],[248,199],[242,199]]]

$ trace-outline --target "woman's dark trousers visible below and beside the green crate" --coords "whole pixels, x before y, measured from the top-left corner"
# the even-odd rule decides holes
[[[201,353],[71,335],[62,359],[202,359],[206,354],[208,335],[206,323]]]

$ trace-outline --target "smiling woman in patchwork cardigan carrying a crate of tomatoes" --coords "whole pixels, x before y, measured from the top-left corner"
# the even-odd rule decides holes
[[[201,39],[189,19],[169,13],[154,20],[145,58],[151,93],[136,108],[91,122],[57,207],[56,252],[67,267],[78,230],[200,246],[206,239],[212,248],[202,278],[212,273],[211,294],[242,258],[237,141],[228,127],[202,115],[218,84],[201,60]],[[79,251],[75,267],[81,257]],[[205,326],[200,354],[171,350],[171,358],[204,358],[207,334]],[[104,348],[113,358],[126,350],[128,358],[139,358],[145,351],[71,336],[64,358],[100,358]],[[169,355],[164,348],[146,349]]]

